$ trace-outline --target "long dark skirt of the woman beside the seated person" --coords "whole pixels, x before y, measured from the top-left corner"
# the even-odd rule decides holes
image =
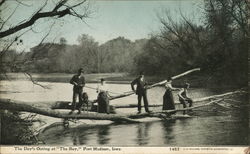
[[[163,107],[162,110],[174,110],[174,97],[172,91],[167,89],[163,96]]]

